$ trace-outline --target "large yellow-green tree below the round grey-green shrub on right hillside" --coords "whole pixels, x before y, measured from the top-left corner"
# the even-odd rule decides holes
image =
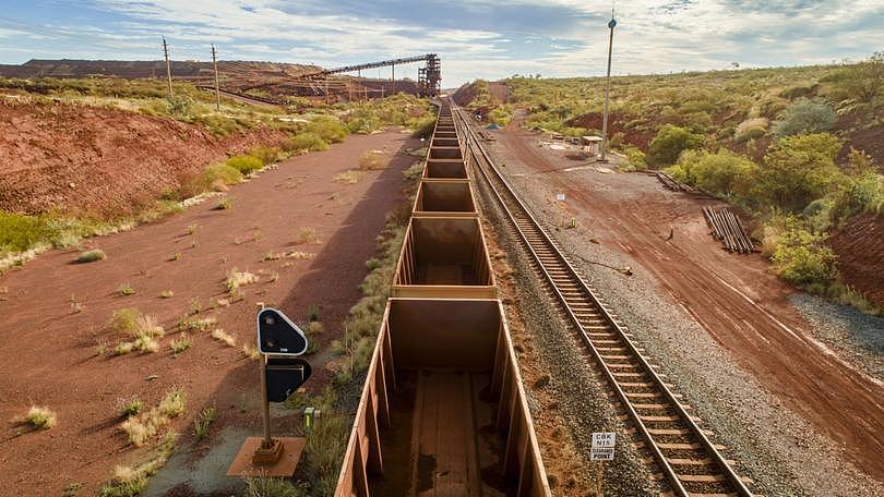
[[[844,184],[835,166],[841,141],[828,133],[787,136],[770,146],[754,174],[755,196],[769,206],[797,213]]]

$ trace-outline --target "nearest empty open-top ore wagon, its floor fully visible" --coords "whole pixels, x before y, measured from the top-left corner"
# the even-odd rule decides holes
[[[550,495],[498,300],[387,303],[335,495],[433,489]]]

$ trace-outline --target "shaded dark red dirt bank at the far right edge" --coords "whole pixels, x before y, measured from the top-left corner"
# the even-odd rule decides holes
[[[884,218],[863,214],[829,239],[844,280],[884,307]]]

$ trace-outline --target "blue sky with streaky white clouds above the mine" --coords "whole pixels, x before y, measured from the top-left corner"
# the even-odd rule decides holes
[[[807,65],[884,51],[884,0],[621,0],[613,74]],[[612,2],[0,0],[0,63],[35,59],[312,63],[439,53],[443,87],[605,73]],[[417,78],[419,64],[397,75]],[[390,69],[380,75],[389,77]]]

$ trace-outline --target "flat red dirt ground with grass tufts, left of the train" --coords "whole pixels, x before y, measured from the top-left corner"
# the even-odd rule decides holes
[[[386,213],[402,202],[401,171],[415,158],[397,154],[389,169],[367,172],[353,185],[333,178],[358,168],[365,150],[392,155],[406,145],[418,147],[393,131],[351,136],[232,187],[229,210],[213,210],[217,199],[210,199],[182,215],[89,240],[89,246],[107,253],[106,260],[73,265],[76,252],[57,250],[0,277],[0,419],[22,416],[29,405],[58,414],[58,425],[45,432],[16,435],[15,425],[3,424],[0,495],[59,495],[72,482],[83,483],[83,495],[94,495],[115,465],[146,457],[119,429],[119,400],[136,395],[145,405],[156,405],[172,385],[188,395],[186,414],[174,422],[182,444],[193,441],[192,421],[208,404],[217,405],[220,426],[259,433],[256,363],[241,351],[254,341],[259,303],[277,305],[297,322],[319,304],[323,347],[339,336],[342,319],[361,296],[365,260],[374,254]],[[190,226],[196,226],[192,235]],[[299,244],[301,228],[315,229],[320,243]],[[267,253],[290,250],[315,255],[262,262]],[[179,260],[169,260],[174,253],[181,254]],[[225,278],[234,267],[259,275],[260,281],[243,288],[243,301],[198,317],[215,316],[236,337],[237,348],[207,331],[192,332],[192,348],[175,357],[169,342],[178,337],[176,320],[194,300],[208,307],[226,298]],[[275,282],[272,271],[279,275]],[[136,293],[120,296],[117,289],[127,282]],[[162,299],[164,290],[175,295]],[[82,303],[81,313],[72,311],[71,300]],[[167,331],[159,352],[96,355],[98,342],[112,349],[120,340],[105,324],[122,307],[156,315]],[[327,374],[322,364],[313,371],[308,387],[318,388]],[[152,375],[156,379],[150,380]],[[214,426],[213,433],[218,433]]]

